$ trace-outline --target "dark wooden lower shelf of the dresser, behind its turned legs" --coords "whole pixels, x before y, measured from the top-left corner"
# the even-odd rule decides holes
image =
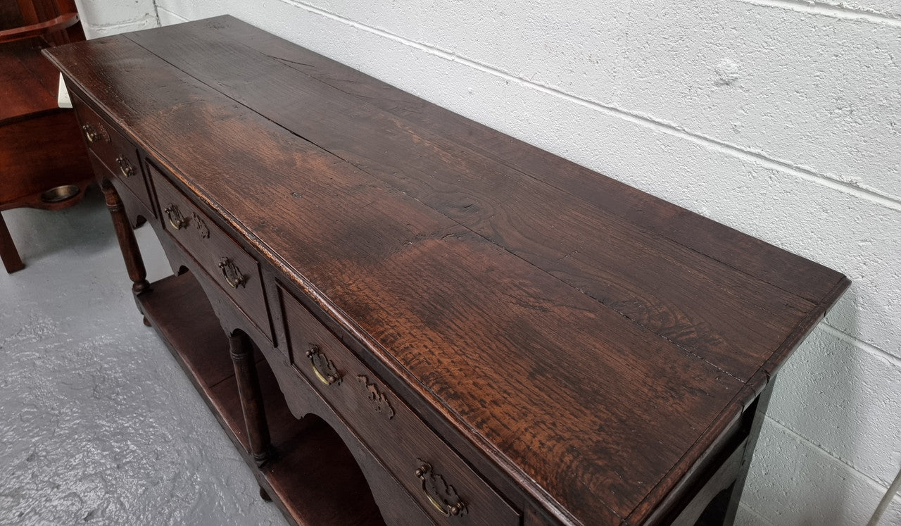
[[[261,488],[297,524],[384,525],[350,450],[315,416],[297,420],[271,368],[255,349],[276,457],[257,467],[249,453],[228,338],[190,273],[166,277],[137,296],[147,322],[185,370]],[[257,498],[248,495],[248,498]]]

